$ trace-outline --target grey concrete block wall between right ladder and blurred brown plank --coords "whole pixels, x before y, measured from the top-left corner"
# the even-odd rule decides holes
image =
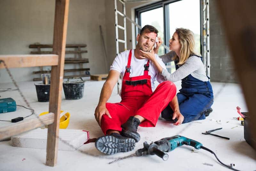
[[[236,83],[236,74],[232,58],[225,40],[224,28],[221,25],[216,0],[210,0],[210,63],[211,81]]]

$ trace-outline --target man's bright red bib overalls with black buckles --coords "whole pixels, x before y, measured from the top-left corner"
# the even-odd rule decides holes
[[[121,102],[106,103],[112,118],[102,115],[101,129],[106,135],[107,130],[121,131],[121,125],[130,116],[140,115],[146,120],[140,126],[155,127],[160,113],[176,95],[176,86],[171,81],[164,81],[154,91],[151,89],[151,77],[148,75],[149,60],[144,65],[144,75],[130,76],[132,50],[130,50],[126,71],[123,77]]]

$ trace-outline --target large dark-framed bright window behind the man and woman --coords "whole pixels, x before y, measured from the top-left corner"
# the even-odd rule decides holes
[[[140,26],[155,26],[164,44],[169,47],[169,39],[176,28],[188,28],[195,34],[197,53],[200,52],[200,0],[166,0],[135,9],[136,22]],[[136,28],[136,34],[140,30]],[[159,49],[161,56],[169,50]],[[174,63],[168,63],[167,70],[174,72]]]

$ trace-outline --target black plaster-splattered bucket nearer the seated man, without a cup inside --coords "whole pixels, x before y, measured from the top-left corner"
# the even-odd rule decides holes
[[[85,81],[82,78],[79,78],[81,79],[79,81],[70,81],[69,79],[74,78],[68,78],[67,81],[63,82],[63,90],[66,100],[77,100],[83,98]]]

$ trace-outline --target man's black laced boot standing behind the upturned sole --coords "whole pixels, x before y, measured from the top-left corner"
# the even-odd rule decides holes
[[[140,134],[137,132],[137,128],[140,125],[140,120],[136,117],[130,116],[129,119],[121,125],[121,135],[135,139],[136,142],[140,141]]]

